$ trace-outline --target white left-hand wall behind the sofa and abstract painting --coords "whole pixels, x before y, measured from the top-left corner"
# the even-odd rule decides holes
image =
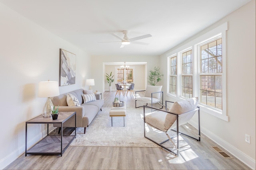
[[[59,49],[76,54],[76,84],[60,93],[84,88],[90,57],[0,3],[1,119],[0,169],[25,151],[25,122],[40,115],[46,98],[38,98],[38,82],[58,81]],[[31,146],[42,137],[42,125],[29,125]]]

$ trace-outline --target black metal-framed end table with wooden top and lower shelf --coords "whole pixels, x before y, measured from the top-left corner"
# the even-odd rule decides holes
[[[75,117],[75,135],[63,135],[63,123]],[[47,136],[41,141],[36,143],[33,147],[27,150],[27,132],[28,124],[47,124]],[[49,124],[61,124],[60,135],[49,135]],[[62,156],[63,152],[68,148],[70,143],[76,138],[76,112],[59,112],[58,119],[52,120],[52,117],[43,117],[39,115],[29,121],[26,121],[26,144],[25,144],[25,156],[27,154],[43,154],[43,155],[58,155]]]

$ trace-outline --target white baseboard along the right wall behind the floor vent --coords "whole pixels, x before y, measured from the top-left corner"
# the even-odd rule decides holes
[[[198,127],[198,123],[197,122],[190,120],[189,123],[197,129],[197,127]],[[247,166],[249,166],[250,168],[252,168],[254,170],[256,169],[256,166],[255,166],[256,162],[255,162],[255,160],[253,160],[248,155],[244,154],[241,150],[233,147],[232,145],[230,145],[229,143],[227,143],[226,141],[224,141],[223,139],[221,139],[220,137],[218,137],[217,135],[215,135],[214,133],[212,133],[208,129],[205,129],[204,127],[200,127],[200,131],[202,133],[204,133],[204,135],[206,135],[212,141],[214,141],[215,143],[220,145],[220,147],[222,147],[225,150],[227,150],[228,152],[230,152],[233,156],[238,158],[244,164],[246,164]]]

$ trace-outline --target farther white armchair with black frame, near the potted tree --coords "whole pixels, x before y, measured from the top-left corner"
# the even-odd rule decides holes
[[[148,105],[148,103],[150,103],[151,107],[153,107],[153,104],[160,103],[162,100],[162,103],[160,103],[162,105],[160,109],[162,109],[163,108],[163,92],[161,90],[162,90],[162,86],[147,85],[146,90],[135,91],[135,108],[143,107],[143,106],[137,107],[137,104],[136,104],[137,101],[146,103],[146,106]],[[138,97],[137,93],[143,92],[143,91],[145,91],[144,96]]]

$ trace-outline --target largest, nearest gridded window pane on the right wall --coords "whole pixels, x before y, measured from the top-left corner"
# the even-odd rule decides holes
[[[222,109],[222,39],[200,49],[200,103]]]

